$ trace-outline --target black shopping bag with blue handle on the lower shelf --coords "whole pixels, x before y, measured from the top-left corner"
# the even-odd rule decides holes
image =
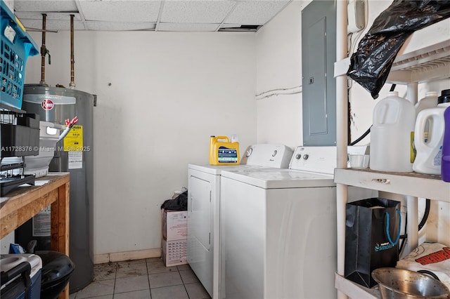
[[[399,260],[400,202],[373,198],[345,207],[345,278],[371,288],[379,267],[395,267]]]

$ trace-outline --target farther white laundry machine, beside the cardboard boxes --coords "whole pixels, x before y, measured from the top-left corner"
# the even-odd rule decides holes
[[[219,298],[219,202],[221,172],[288,168],[293,150],[285,145],[252,145],[236,166],[188,165],[188,263],[211,298]]]

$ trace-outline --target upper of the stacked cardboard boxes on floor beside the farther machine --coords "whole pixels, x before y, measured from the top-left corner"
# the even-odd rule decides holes
[[[188,211],[167,211],[162,213],[162,239],[166,241],[188,237]]]

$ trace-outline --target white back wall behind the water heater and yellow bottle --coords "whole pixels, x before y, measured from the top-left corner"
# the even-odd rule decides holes
[[[41,34],[32,34],[37,44]],[[48,33],[46,82],[70,82],[70,33]],[[40,81],[40,56],[26,83]],[[94,108],[94,254],[161,244],[161,210],[207,163],[210,135],[256,142],[255,34],[75,32],[76,89]]]

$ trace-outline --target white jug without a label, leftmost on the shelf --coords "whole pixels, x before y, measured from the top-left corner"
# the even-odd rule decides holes
[[[414,105],[391,91],[373,108],[371,163],[374,171],[410,172],[411,135],[416,122]]]

